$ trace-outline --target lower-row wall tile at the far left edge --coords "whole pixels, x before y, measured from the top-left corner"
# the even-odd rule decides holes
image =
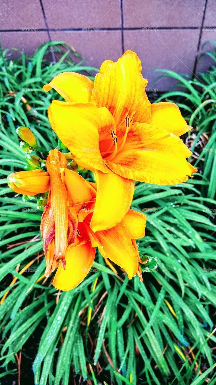
[[[0,32],[0,43],[2,49],[17,48],[24,49],[26,54],[32,55],[42,43],[48,42],[47,32]],[[7,54],[11,57],[20,56],[20,52],[10,50]]]

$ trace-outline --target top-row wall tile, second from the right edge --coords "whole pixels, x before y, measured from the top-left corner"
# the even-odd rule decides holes
[[[124,27],[199,27],[203,8],[204,0],[123,0]]]

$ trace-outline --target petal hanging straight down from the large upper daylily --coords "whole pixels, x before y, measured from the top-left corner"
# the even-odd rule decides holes
[[[110,229],[128,211],[134,194],[134,181],[112,172],[95,170],[97,195],[90,227],[93,231]]]

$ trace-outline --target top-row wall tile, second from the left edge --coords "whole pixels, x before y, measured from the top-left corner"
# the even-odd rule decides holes
[[[119,0],[43,0],[49,28],[119,28]]]

